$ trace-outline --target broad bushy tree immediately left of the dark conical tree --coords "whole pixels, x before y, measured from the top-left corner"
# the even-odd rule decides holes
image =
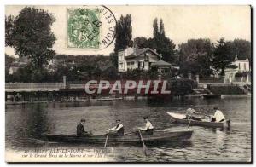
[[[201,77],[208,77],[212,74],[211,59],[214,49],[210,39],[189,39],[187,43],[179,45],[179,63],[181,72],[191,72]]]

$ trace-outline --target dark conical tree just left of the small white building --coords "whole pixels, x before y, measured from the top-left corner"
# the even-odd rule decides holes
[[[212,58],[212,66],[220,75],[224,75],[224,70],[233,62],[232,50],[230,44],[227,44],[224,41],[224,37],[221,37],[218,40],[218,44],[214,49],[213,58]]]

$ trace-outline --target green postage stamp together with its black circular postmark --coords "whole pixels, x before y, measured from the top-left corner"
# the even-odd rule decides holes
[[[106,6],[67,9],[67,47],[104,49],[115,38],[116,18]]]

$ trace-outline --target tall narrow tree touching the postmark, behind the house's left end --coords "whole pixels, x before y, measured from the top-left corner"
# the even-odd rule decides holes
[[[131,14],[126,14],[124,17],[121,15],[120,20],[117,21],[115,28],[115,45],[114,53],[117,55],[119,49],[125,49],[131,46],[132,26],[131,26]]]

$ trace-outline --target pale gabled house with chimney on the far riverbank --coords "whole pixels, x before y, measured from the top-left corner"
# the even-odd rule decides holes
[[[127,72],[128,69],[149,70],[156,67],[159,72],[169,72],[172,65],[161,59],[156,50],[143,48],[120,49],[118,52],[118,71]]]

